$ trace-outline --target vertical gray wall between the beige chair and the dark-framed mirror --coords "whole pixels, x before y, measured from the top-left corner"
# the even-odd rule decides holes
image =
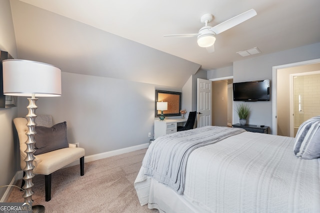
[[[67,122],[70,143],[94,155],[148,143],[153,135],[155,89],[152,84],[62,72],[62,96],[40,97],[36,114]],[[19,97],[18,116],[28,101]]]

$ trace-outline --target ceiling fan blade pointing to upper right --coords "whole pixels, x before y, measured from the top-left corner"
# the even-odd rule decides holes
[[[246,21],[249,18],[252,18],[256,15],[256,11],[254,9],[249,9],[246,12],[243,12],[241,14],[238,14],[237,16],[234,16],[233,18],[230,18],[226,21],[223,21],[222,23],[219,23],[212,28],[210,28],[211,31],[213,31],[216,35],[230,29],[231,27],[238,25],[239,23],[242,23],[243,21]]]

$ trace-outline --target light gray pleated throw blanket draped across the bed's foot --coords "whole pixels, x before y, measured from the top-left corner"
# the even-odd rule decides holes
[[[244,129],[205,126],[160,137],[147,150],[143,174],[183,193],[185,167],[189,154],[202,146],[216,143],[244,132]]]

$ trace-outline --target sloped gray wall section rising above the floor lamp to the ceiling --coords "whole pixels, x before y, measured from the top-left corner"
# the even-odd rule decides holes
[[[177,88],[200,68],[199,64],[22,1],[10,4],[20,59],[53,64],[62,72]]]

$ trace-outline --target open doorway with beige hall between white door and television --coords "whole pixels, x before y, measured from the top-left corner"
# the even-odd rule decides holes
[[[212,81],[213,126],[232,127],[232,83],[232,78]]]

